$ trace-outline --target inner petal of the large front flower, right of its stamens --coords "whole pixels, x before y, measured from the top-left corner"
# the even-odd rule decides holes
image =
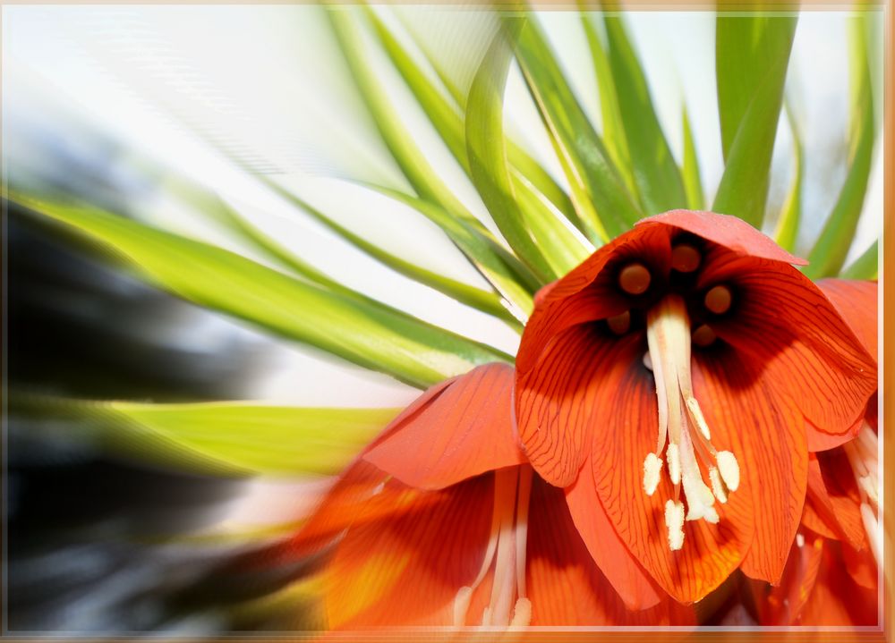
[[[698,354],[694,386],[704,401],[712,442],[739,462],[742,497],[754,520],[754,537],[740,569],[747,576],[780,580],[805,502],[808,454],[797,411],[780,404],[759,365],[731,346]],[[723,520],[723,518],[722,518]]]

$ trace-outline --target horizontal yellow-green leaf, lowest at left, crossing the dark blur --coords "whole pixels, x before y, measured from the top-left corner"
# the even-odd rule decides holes
[[[151,404],[39,398],[24,408],[73,421],[68,439],[166,468],[217,475],[333,475],[399,409],[309,409],[257,402]]]

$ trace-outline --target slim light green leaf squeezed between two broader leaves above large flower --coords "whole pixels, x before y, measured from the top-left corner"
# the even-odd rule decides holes
[[[621,110],[618,107],[615,80],[612,79],[612,69],[609,67],[609,54],[604,38],[601,37],[593,21],[594,13],[582,13],[581,22],[584,26],[584,36],[587,38],[588,47],[591,50],[593,71],[597,76],[597,89],[600,92],[600,114],[603,121],[603,142],[609,156],[618,168],[618,173],[625,180],[625,185],[631,194],[638,198],[637,184],[634,180],[634,165],[631,164],[631,154],[627,149],[625,128],[621,122]]]

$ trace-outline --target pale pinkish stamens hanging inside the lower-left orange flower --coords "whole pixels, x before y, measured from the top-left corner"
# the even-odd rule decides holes
[[[531,467],[494,472],[491,536],[482,570],[471,586],[454,598],[454,626],[466,624],[473,591],[494,570],[490,602],[482,612],[486,627],[524,627],[532,621],[532,603],[525,597],[525,550],[528,545],[528,503],[532,495]],[[512,614],[511,612],[512,608]]]

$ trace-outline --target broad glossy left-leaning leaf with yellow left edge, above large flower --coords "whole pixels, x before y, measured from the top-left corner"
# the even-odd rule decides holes
[[[630,229],[643,213],[533,20],[520,33],[516,58],[571,186],[575,212],[587,226],[591,241],[608,241]]]

